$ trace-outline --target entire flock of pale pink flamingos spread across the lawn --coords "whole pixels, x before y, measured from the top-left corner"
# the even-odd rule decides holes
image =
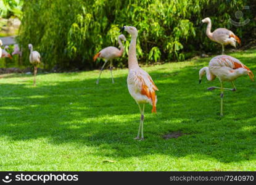
[[[229,55],[224,55],[224,47],[225,45],[230,44],[231,46],[236,47],[236,43],[241,43],[240,39],[234,35],[234,33],[226,28],[218,28],[217,30],[211,32],[212,23],[210,18],[205,18],[202,20],[203,23],[207,23],[206,35],[212,40],[215,41],[222,46],[222,55],[217,55],[213,57],[208,67],[203,67],[199,70],[199,83],[202,81],[202,77],[206,74],[207,80],[212,81],[216,77],[220,80],[220,87],[210,87],[209,90],[220,89],[220,99],[221,99],[221,108],[220,115],[223,116],[223,94],[224,90],[236,91],[236,87],[234,86],[234,80],[236,80],[239,76],[249,75],[251,80],[254,80],[254,74],[251,70],[246,67],[246,65],[242,64],[238,59],[231,57]],[[151,76],[142,70],[139,67],[138,60],[136,57],[136,39],[138,36],[138,30],[135,27],[125,26],[121,28],[120,32],[126,31],[131,35],[131,43],[128,51],[128,68],[129,73],[127,77],[128,90],[131,96],[134,98],[136,103],[139,106],[139,111],[141,113],[141,120],[139,123],[138,135],[134,139],[144,139],[143,135],[143,122],[144,122],[144,107],[145,104],[152,105],[152,112],[157,112],[157,96],[155,91],[159,89],[155,86],[154,81]],[[94,55],[93,60],[96,61],[98,58],[104,59],[105,63],[101,68],[101,72],[99,73],[99,78],[97,78],[96,83],[99,83],[99,79],[101,77],[102,70],[104,70],[105,64],[110,60],[110,74],[112,78],[112,83],[114,83],[114,78],[112,75],[112,60],[121,57],[123,55],[123,44],[122,40],[126,41],[124,35],[118,36],[118,44],[120,49],[117,47],[109,46],[105,47],[101,51],[99,51],[96,55]],[[2,41],[0,40],[0,46],[2,46]],[[34,67],[34,76],[36,77],[37,67],[40,63],[40,54],[37,51],[33,51],[32,44],[28,45],[30,49],[30,63]],[[6,48],[5,48],[6,49]],[[19,46],[15,46],[14,52],[12,54],[21,54],[19,51]],[[1,57],[11,57],[4,49],[0,47],[0,58]],[[34,85],[36,84],[34,78]],[[233,84],[233,89],[223,88],[223,81],[230,81]]]

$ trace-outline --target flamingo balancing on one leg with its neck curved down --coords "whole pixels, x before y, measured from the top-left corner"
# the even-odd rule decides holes
[[[199,70],[199,83],[202,81],[202,76],[206,73],[207,80],[213,81],[216,76],[220,80],[220,88],[210,87],[209,90],[220,89],[220,115],[223,117],[223,96],[224,89],[236,91],[234,80],[242,75],[249,75],[251,80],[254,80],[254,74],[251,70],[242,64],[238,59],[229,55],[218,55],[213,57],[209,62],[209,67],[203,67]],[[233,84],[233,89],[223,88],[223,81],[230,81]]]

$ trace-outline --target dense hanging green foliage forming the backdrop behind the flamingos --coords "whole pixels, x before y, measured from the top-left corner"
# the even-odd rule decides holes
[[[107,46],[118,46],[119,28],[138,28],[137,54],[140,62],[184,60],[191,53],[220,51],[218,44],[205,35],[201,20],[212,19],[213,28],[229,28],[242,41],[252,37],[255,22],[234,27],[229,19],[253,0],[31,0],[23,6],[19,42],[28,59],[29,43],[43,55],[47,68],[54,65],[70,68],[94,68],[93,55]],[[243,10],[244,17],[254,19],[255,10]],[[128,41],[130,36],[126,34]],[[127,65],[125,57],[115,65]],[[187,54],[189,53],[189,54]],[[28,61],[27,61],[28,62]]]

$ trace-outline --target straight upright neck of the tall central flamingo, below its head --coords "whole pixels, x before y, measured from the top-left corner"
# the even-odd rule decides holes
[[[128,52],[128,68],[129,69],[139,67],[138,60],[136,57],[136,39],[137,39],[137,36],[131,35],[131,43],[130,43],[129,52]]]

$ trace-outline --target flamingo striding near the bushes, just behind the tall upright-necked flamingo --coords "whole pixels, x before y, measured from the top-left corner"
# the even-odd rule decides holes
[[[99,78],[101,78],[101,73],[104,69],[105,64],[107,63],[108,60],[110,60],[110,74],[112,78],[112,83],[114,83],[114,79],[112,75],[112,60],[117,57],[121,57],[124,51],[121,39],[123,41],[126,41],[126,38],[124,35],[118,36],[118,44],[120,46],[120,50],[117,47],[113,47],[113,46],[105,47],[93,57],[94,62],[97,60],[97,58],[102,58],[105,60],[105,63],[102,65],[101,72],[99,73]],[[99,84],[99,78],[97,79],[96,84]]]

